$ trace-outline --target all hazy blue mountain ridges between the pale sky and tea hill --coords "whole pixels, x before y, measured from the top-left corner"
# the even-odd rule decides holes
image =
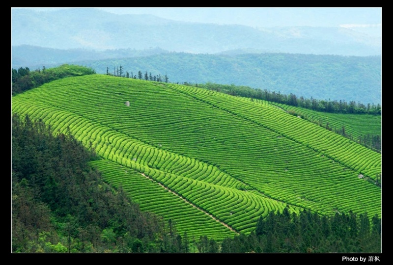
[[[381,103],[381,37],[345,27],[185,23],[95,8],[12,9],[11,19],[15,69],[69,63],[113,73],[121,65],[134,75],[167,74],[170,82]]]

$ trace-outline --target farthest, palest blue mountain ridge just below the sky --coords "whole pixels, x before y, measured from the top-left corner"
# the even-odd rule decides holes
[[[222,53],[253,49],[274,53],[368,56],[381,54],[381,37],[345,27],[270,27],[185,23],[153,15],[118,15],[95,8],[11,11],[12,46],[53,49],[136,49]]]

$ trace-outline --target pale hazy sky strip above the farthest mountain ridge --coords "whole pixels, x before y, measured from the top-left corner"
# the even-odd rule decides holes
[[[40,7],[35,10],[46,11]],[[52,8],[59,9],[59,8]],[[99,7],[116,14],[152,14],[162,18],[251,27],[381,27],[382,7]]]

